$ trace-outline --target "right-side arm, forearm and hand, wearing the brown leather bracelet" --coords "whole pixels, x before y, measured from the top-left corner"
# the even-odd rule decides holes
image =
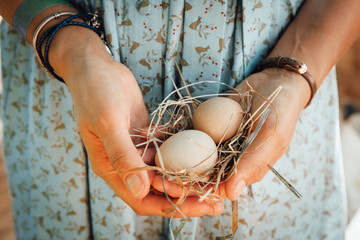
[[[305,1],[269,57],[285,56],[304,62],[319,88],[330,69],[359,35],[359,9],[358,0]],[[267,164],[273,165],[286,151],[298,116],[310,97],[305,79],[284,69],[265,69],[247,80],[264,96],[280,85],[284,88],[274,102],[278,119],[272,111],[249,153],[240,161],[238,173],[226,184],[226,195],[230,200],[236,199],[245,185],[260,181],[268,172]],[[247,90],[245,83],[237,88]],[[260,103],[261,100],[255,97],[254,109]],[[268,136],[270,138],[257,149]]]

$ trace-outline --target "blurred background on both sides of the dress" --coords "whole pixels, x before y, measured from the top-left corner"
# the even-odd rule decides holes
[[[1,22],[1,17],[0,17]],[[1,52],[0,52],[1,54]],[[1,55],[0,55],[1,56]],[[1,60],[1,59],[0,59]],[[346,240],[360,239],[360,38],[337,64],[341,138],[348,196],[349,225]],[[1,78],[0,78],[1,82]],[[0,85],[1,91],[1,85]],[[2,122],[0,121],[0,150]],[[9,191],[0,151],[0,239],[15,239]]]

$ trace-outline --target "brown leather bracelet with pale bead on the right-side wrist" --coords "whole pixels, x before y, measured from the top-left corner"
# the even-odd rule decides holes
[[[314,98],[317,91],[316,82],[311,76],[311,74],[307,71],[307,66],[304,63],[299,62],[293,58],[279,56],[274,58],[267,58],[264,61],[261,61],[257,66],[256,70],[259,72],[265,68],[272,67],[284,68],[288,71],[296,72],[305,78],[311,90],[310,99],[305,106],[305,108],[307,108],[310,105],[311,100]]]

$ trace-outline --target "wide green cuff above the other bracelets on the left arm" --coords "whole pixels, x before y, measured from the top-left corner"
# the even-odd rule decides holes
[[[46,8],[55,5],[67,5],[74,7],[69,0],[24,0],[16,9],[13,17],[15,30],[26,39],[26,33],[31,21]]]

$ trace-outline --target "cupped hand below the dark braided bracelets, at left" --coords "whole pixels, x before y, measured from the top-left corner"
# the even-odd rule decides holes
[[[172,207],[169,200],[149,191],[155,173],[131,171],[146,164],[130,130],[148,126],[148,113],[131,71],[110,57],[96,34],[81,27],[61,29],[49,59],[70,90],[93,171],[136,213],[171,216],[162,211]],[[153,158],[154,152],[148,151],[144,159]],[[180,209],[189,217],[222,212],[218,205],[196,197],[187,198]],[[175,217],[182,215],[177,212]]]

